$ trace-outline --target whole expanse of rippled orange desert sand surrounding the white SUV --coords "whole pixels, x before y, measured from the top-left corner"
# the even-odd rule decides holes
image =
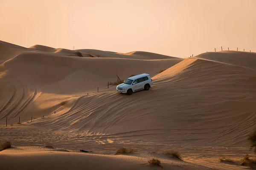
[[[58,158],[53,169],[67,159],[70,162],[64,169],[94,165],[96,169],[147,169],[143,162],[157,157],[166,169],[228,170],[241,167],[237,162],[222,164],[218,158],[229,156],[239,161],[250,153],[246,139],[256,128],[254,53],[224,51],[182,60],[159,59],[160,55],[154,58],[146,52],[101,51],[105,58],[81,58],[49,47],[8,45],[0,45],[3,53],[12,56],[1,58],[0,123],[4,124],[6,116],[13,123],[21,116],[23,123],[0,127],[0,142],[10,140],[17,146],[50,142],[70,151],[84,149],[107,155],[39,151],[35,147],[29,153],[27,148],[20,153],[19,148],[4,150],[1,159],[22,158],[22,165],[33,159],[40,164],[38,160],[50,162],[53,155]],[[125,57],[108,58],[110,54]],[[145,59],[133,59],[144,54]],[[149,91],[126,96],[117,94],[115,86],[106,88],[106,82],[114,81],[116,74],[121,78],[141,72],[154,75],[162,68],[169,69],[153,77]],[[94,90],[97,86],[99,92]],[[43,114],[46,117],[41,118]],[[38,119],[28,122],[31,116]],[[110,155],[119,147],[133,147],[139,152]],[[179,151],[184,162],[163,157],[160,152],[167,149]],[[149,153],[152,151],[157,153]],[[121,163],[114,164],[116,160]]]

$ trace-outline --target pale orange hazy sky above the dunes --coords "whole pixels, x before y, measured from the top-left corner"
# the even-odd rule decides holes
[[[189,57],[256,52],[256,0],[0,0],[0,40]]]

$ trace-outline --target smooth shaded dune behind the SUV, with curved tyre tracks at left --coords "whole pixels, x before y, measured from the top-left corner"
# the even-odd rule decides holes
[[[31,116],[48,115],[58,108],[63,110],[61,102],[72,103],[76,96],[91,94],[97,88],[102,91],[108,82],[117,81],[116,74],[121,79],[143,72],[154,75],[183,60],[70,57],[63,49],[55,51],[54,48],[35,45],[31,50],[6,42],[1,42],[0,47],[2,121],[6,116],[9,120],[17,116],[28,120]]]

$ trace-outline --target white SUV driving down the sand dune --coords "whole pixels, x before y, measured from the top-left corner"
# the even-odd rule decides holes
[[[139,74],[133,77],[129,77],[124,81],[124,83],[116,86],[116,91],[119,93],[126,93],[131,95],[132,92],[140,90],[149,90],[153,85],[153,81],[149,74]]]

